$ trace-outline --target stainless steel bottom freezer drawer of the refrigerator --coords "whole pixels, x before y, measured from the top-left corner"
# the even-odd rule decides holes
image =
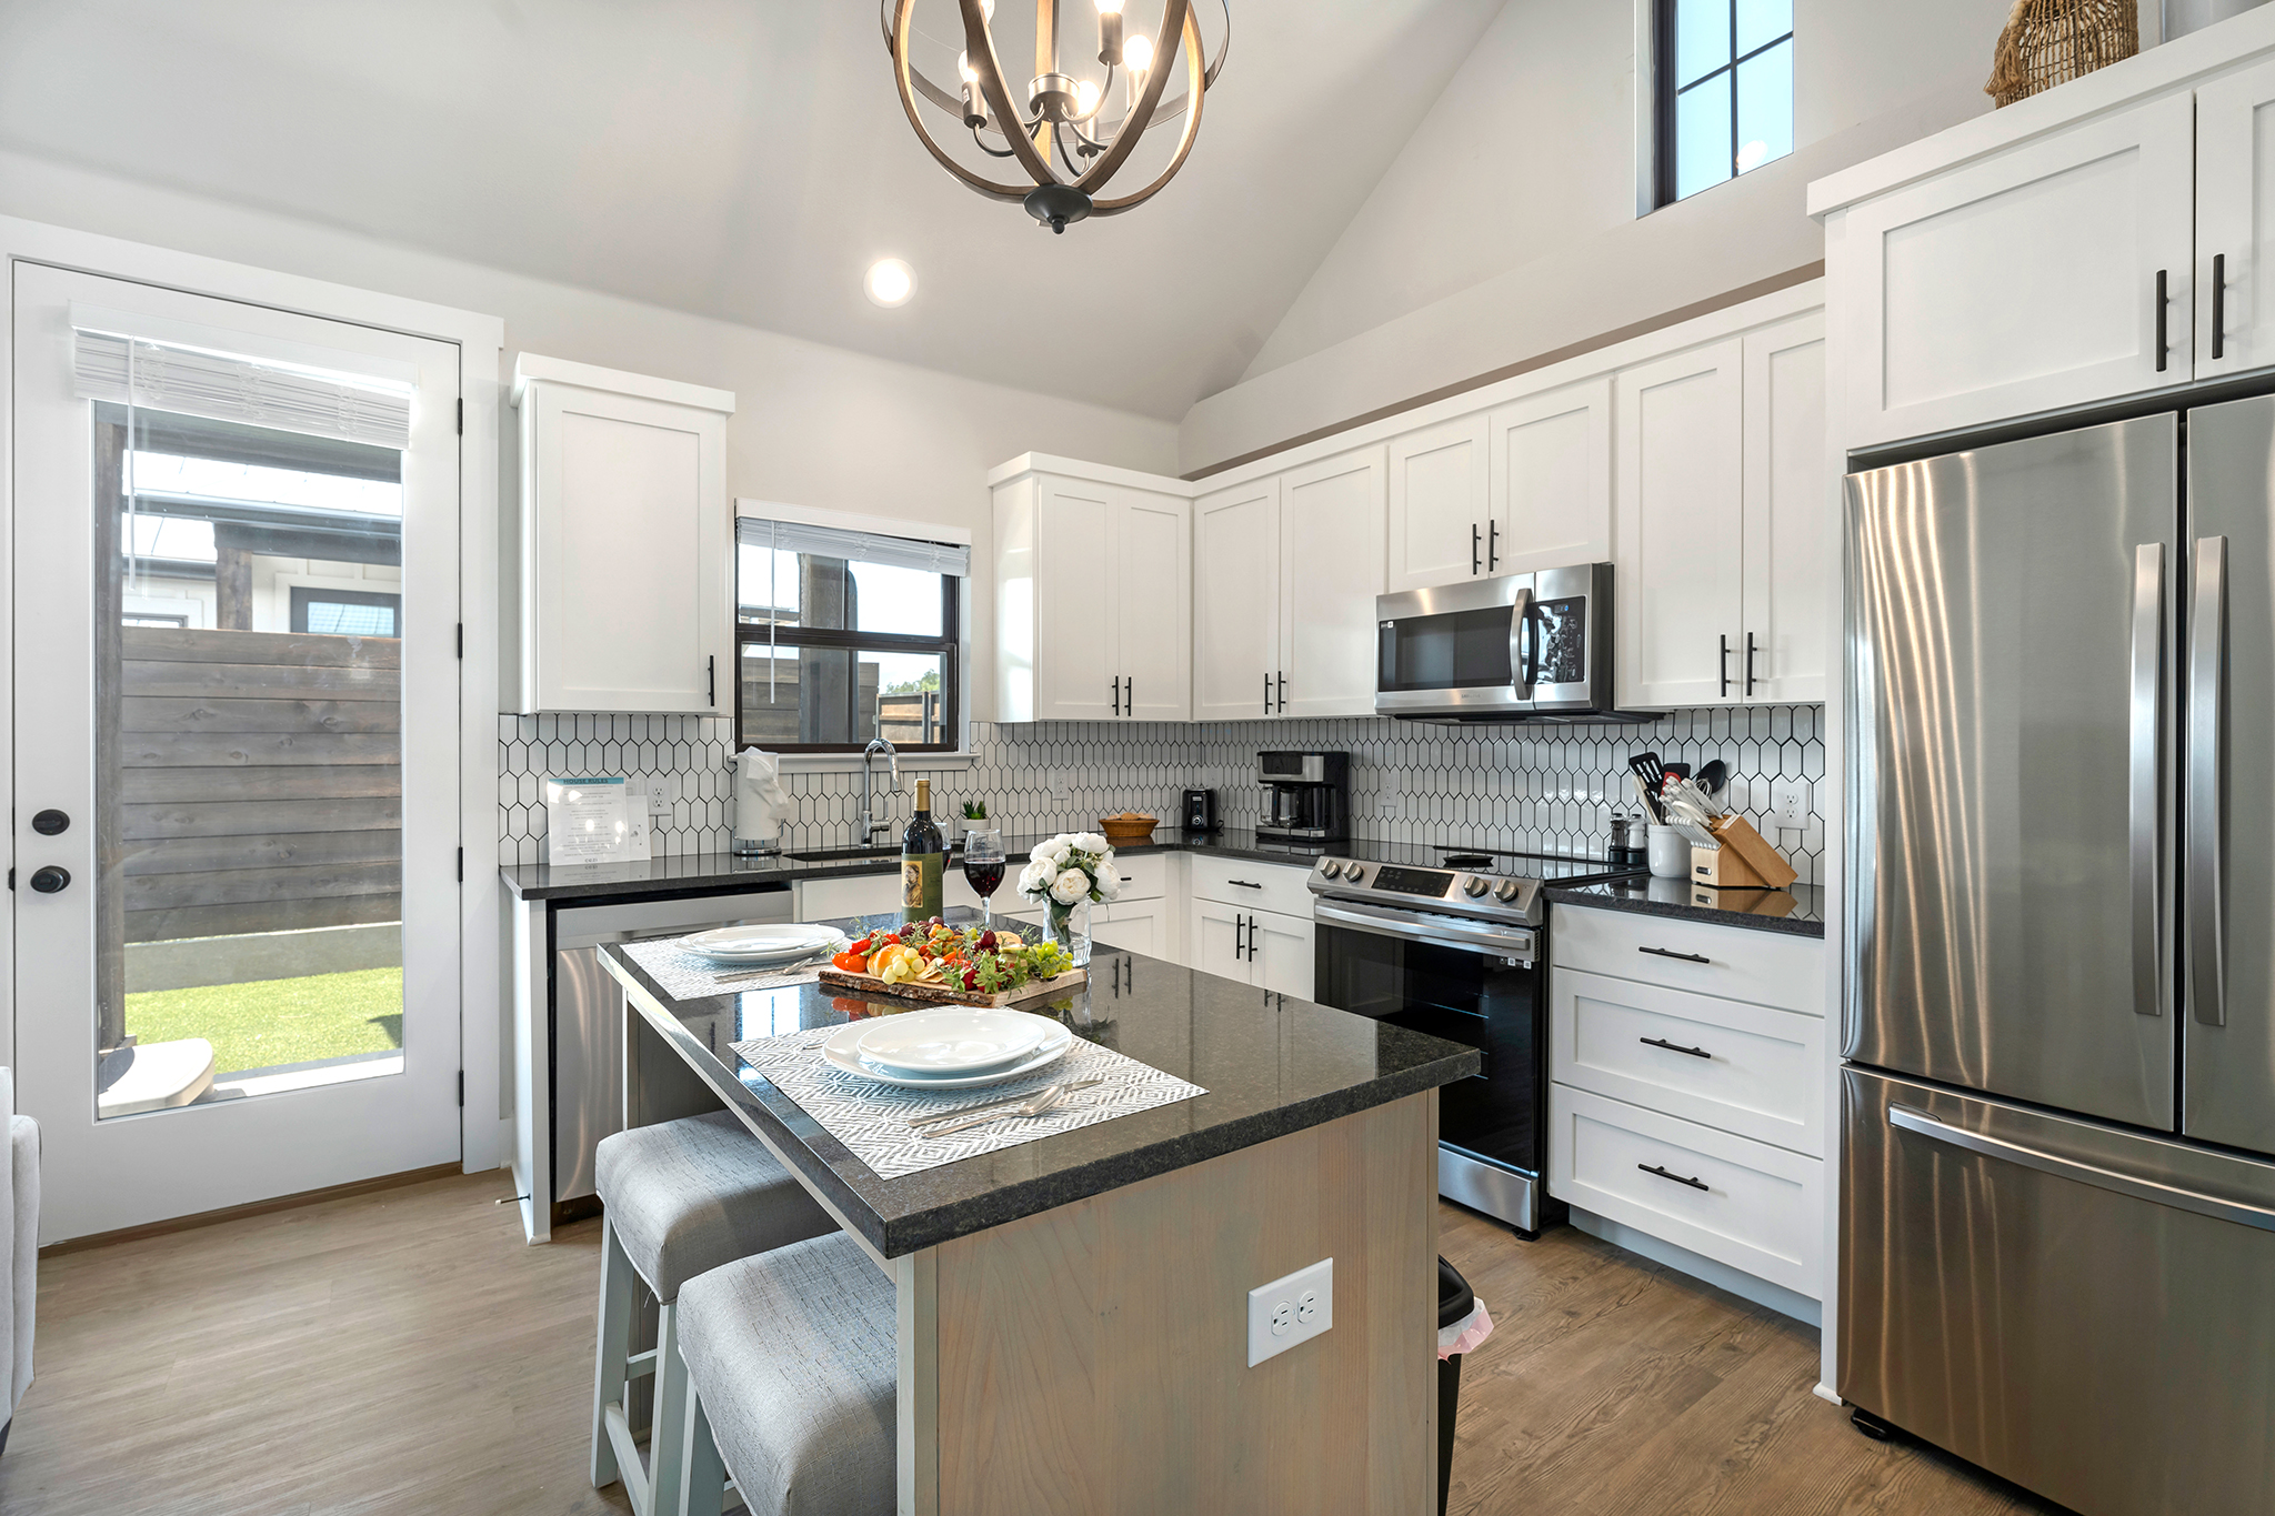
[[[2275,1164],[1843,1071],[1840,1396],[2086,1516],[2275,1509]]]

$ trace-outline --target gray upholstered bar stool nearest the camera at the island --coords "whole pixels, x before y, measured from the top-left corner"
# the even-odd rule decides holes
[[[735,1475],[751,1516],[890,1516],[899,1500],[892,1282],[851,1236],[794,1243],[687,1282],[685,1516]]]

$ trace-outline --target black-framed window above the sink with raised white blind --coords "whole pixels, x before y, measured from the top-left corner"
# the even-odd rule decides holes
[[[799,520],[735,523],[735,743],[953,752],[971,550]]]

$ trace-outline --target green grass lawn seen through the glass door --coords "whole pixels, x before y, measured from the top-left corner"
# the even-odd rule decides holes
[[[150,989],[127,996],[127,1032],[146,1043],[202,1036],[216,1073],[389,1052],[403,1046],[403,971]]]

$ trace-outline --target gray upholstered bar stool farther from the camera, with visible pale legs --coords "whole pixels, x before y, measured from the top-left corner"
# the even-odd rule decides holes
[[[592,1482],[621,1477],[639,1516],[678,1516],[687,1450],[680,1286],[753,1252],[835,1232],[837,1223],[733,1111],[603,1136],[594,1180],[603,1230]],[[635,1282],[660,1305],[653,1352],[632,1352]],[[630,1382],[642,1375],[655,1375],[646,1466],[626,1414]]]

